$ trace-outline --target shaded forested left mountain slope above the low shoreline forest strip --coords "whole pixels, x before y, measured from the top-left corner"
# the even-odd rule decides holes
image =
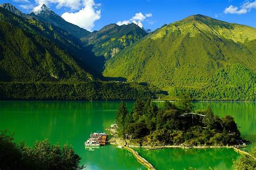
[[[79,39],[35,18],[0,8],[0,79],[2,81],[91,80],[78,63]]]

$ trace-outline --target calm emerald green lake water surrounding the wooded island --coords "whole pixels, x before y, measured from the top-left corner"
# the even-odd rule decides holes
[[[36,140],[69,142],[82,157],[85,169],[145,169],[125,149],[107,145],[89,151],[84,141],[91,132],[104,131],[115,117],[118,101],[0,101],[0,130],[15,132],[16,141],[32,146]],[[133,103],[127,103],[131,109]],[[235,118],[242,137],[256,143],[255,103],[195,103],[196,110],[210,105],[220,117]],[[247,149],[250,149],[248,147]],[[157,169],[232,169],[239,154],[232,149],[138,149]]]

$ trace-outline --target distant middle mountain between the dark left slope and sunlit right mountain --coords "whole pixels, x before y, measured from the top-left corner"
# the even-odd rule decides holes
[[[146,35],[143,29],[133,23],[120,26],[109,24],[82,38],[82,41],[91,47],[95,56],[104,56],[105,59],[109,59]]]

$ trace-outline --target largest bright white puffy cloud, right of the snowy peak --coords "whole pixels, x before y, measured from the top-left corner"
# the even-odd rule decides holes
[[[101,17],[101,11],[96,10],[100,4],[95,4],[93,0],[84,0],[83,5],[84,8],[80,9],[78,12],[63,13],[62,18],[64,18],[65,21],[78,25],[88,31],[92,31],[95,26],[95,21]]]

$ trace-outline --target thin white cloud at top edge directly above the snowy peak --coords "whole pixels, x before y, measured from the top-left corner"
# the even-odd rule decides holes
[[[56,8],[62,8],[62,7],[68,7],[72,10],[79,9],[79,7],[82,5],[80,0],[35,0],[37,4],[45,4],[45,5],[51,5],[51,4],[57,4]]]

